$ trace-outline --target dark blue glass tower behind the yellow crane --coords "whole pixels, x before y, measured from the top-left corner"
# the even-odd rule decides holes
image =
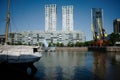
[[[92,8],[91,10],[92,18],[92,33],[93,39],[99,40],[103,38],[104,29],[103,29],[103,10],[101,8]]]

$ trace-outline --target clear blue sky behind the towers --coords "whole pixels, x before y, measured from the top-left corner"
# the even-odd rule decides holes
[[[5,33],[7,3],[0,0],[0,34]],[[45,4],[57,5],[57,30],[62,29],[62,6],[74,7],[74,30],[92,40],[91,9],[103,9],[103,28],[113,32],[113,20],[120,18],[120,0],[10,0],[10,31],[45,30]]]

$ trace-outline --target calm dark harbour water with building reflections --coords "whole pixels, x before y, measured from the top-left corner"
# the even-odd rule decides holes
[[[59,51],[42,54],[40,61],[34,63],[38,71],[32,76],[21,70],[10,71],[10,67],[9,72],[5,70],[0,74],[14,80],[120,80],[120,53]],[[1,80],[6,78],[1,76]]]

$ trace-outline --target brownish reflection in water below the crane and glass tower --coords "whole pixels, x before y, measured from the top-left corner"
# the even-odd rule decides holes
[[[107,69],[107,54],[104,52],[94,52],[93,57],[93,72],[100,79],[105,79]]]

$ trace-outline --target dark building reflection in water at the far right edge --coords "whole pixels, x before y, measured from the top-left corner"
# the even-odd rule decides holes
[[[120,80],[120,52],[110,52],[109,53],[109,79],[110,80]]]

